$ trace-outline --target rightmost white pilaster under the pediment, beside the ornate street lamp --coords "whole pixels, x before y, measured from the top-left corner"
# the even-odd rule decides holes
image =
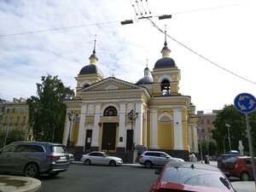
[[[143,144],[143,102],[137,102],[135,107],[137,113],[137,119],[135,120],[134,127],[134,143],[135,146]]]

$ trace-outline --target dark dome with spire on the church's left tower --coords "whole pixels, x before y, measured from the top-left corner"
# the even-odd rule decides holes
[[[90,65],[84,66],[80,72],[79,75],[83,74],[98,74],[102,78],[104,77],[102,70],[96,66],[96,61],[98,61],[98,58],[96,57],[96,39],[94,40],[94,49],[92,51],[92,55],[90,55]]]

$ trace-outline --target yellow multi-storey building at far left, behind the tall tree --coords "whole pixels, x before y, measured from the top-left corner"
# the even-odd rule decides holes
[[[28,125],[28,105],[26,99],[14,98],[13,102],[1,103],[2,114],[0,119],[0,132],[8,132],[15,129],[24,131],[24,140],[32,140],[32,130]]]

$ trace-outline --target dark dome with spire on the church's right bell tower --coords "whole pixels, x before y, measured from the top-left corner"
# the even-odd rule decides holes
[[[165,46],[161,50],[162,58],[155,62],[154,68],[176,67],[175,61],[170,57],[171,50],[167,47],[166,31],[165,31]]]

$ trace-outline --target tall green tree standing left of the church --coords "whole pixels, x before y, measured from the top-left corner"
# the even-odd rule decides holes
[[[36,141],[61,143],[67,110],[63,101],[73,99],[74,91],[57,76],[43,76],[41,80],[42,84],[37,84],[38,96],[27,100],[29,125]]]

